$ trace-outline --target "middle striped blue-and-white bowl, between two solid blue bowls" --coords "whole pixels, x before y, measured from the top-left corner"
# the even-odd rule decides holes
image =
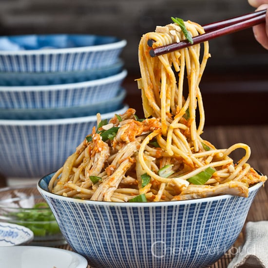
[[[114,76],[73,84],[0,87],[0,108],[39,109],[75,107],[110,100],[118,95],[127,76]]]

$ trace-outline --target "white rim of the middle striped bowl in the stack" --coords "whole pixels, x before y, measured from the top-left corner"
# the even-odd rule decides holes
[[[81,87],[93,87],[109,84],[115,81],[123,80],[127,76],[127,70],[123,69],[120,73],[103,77],[99,79],[70,83],[70,84],[58,84],[58,85],[40,85],[40,86],[0,86],[1,92],[38,92],[38,91],[57,91],[57,90],[66,90],[66,89],[77,89]]]

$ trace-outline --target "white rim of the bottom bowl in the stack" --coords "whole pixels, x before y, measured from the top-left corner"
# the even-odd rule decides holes
[[[124,106],[117,110],[106,114],[101,114],[101,119],[108,119],[115,116],[115,114],[124,113],[129,106],[124,104]],[[90,121],[96,121],[96,115],[89,115],[83,117],[69,117],[69,118],[55,118],[55,119],[33,119],[33,120],[13,120],[13,119],[0,119],[1,126],[49,126],[49,125],[66,125],[66,124],[77,124],[77,123],[87,123]]]

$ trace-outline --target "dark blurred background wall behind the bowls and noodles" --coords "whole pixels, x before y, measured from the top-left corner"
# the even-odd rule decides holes
[[[143,33],[170,23],[172,16],[206,24],[252,11],[247,0],[0,0],[0,35],[81,33],[127,39],[121,55],[129,72],[124,85],[127,101],[140,111],[133,81],[139,77],[137,48]],[[252,30],[211,40],[210,48],[201,84],[208,124],[268,123],[268,51]],[[226,107],[233,107],[231,116]]]

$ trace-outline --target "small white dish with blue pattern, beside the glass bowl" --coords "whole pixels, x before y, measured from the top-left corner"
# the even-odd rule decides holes
[[[26,245],[33,239],[34,233],[30,229],[18,224],[0,222],[0,247]]]

